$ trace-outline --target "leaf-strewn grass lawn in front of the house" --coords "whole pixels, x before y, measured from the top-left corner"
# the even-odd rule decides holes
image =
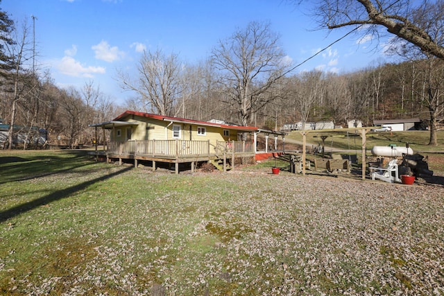
[[[175,175],[1,151],[0,294],[444,294],[443,186],[272,164]]]

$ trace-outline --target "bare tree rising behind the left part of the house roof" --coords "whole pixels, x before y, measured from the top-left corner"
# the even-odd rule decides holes
[[[182,93],[182,63],[178,55],[165,55],[160,50],[144,52],[137,71],[136,81],[119,72],[121,87],[138,94],[145,112],[173,115],[173,107]]]

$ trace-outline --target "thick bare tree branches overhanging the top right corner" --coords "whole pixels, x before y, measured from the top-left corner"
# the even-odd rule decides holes
[[[367,34],[379,37],[383,26],[388,33],[418,46],[422,51],[444,59],[442,40],[429,31],[430,27],[418,22],[418,15],[430,9],[438,12],[439,19],[444,17],[444,1],[436,3],[424,0],[319,0],[315,15],[321,26],[335,29],[346,26],[367,28]],[[432,19],[429,19],[432,21]],[[436,19],[433,20],[436,24]],[[368,25],[368,26],[365,26]],[[441,26],[442,30],[442,26]]]

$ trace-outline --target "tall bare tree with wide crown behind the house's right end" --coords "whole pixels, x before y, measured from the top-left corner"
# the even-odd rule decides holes
[[[270,24],[251,22],[244,30],[236,31],[227,40],[219,41],[212,50],[212,62],[219,70],[219,82],[228,94],[228,103],[234,107],[242,125],[251,115],[273,97],[264,93],[288,69],[279,36]]]

